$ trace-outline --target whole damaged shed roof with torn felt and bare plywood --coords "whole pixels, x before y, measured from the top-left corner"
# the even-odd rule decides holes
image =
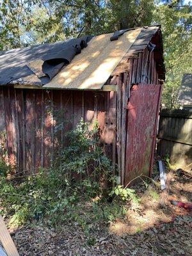
[[[126,52],[149,47],[158,29],[125,29],[0,52],[0,85],[100,90]]]

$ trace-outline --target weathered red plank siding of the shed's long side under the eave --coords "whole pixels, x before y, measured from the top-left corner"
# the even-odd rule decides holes
[[[106,120],[115,115],[115,92],[1,86],[0,98],[1,144],[5,142],[8,161],[17,172],[35,173],[40,166],[49,167],[58,148],[68,143],[66,132],[76,127],[81,118],[90,123],[97,119],[100,129],[108,131],[111,124]],[[63,129],[58,129],[58,123]],[[110,140],[115,141],[115,134],[112,136]],[[102,140],[106,141],[105,148],[113,147],[108,145],[108,132],[102,133]]]

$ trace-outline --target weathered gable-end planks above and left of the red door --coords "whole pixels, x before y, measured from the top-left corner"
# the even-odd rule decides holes
[[[117,159],[118,163],[118,175],[121,177],[121,182],[124,184],[125,178],[125,164],[126,164],[126,144],[129,143],[127,140],[127,129],[132,129],[132,127],[127,127],[127,113],[128,113],[128,102],[131,95],[132,84],[158,84],[159,76],[157,72],[157,63],[156,63],[156,52],[149,52],[148,49],[138,50],[134,52],[128,52],[126,54],[125,62],[122,67],[116,68],[114,74],[120,73],[121,70],[124,70],[122,74],[118,76],[111,77],[109,83],[117,84],[117,96],[116,96],[116,147],[117,147]],[[127,61],[127,62],[126,62]],[[159,86],[161,86],[159,84]],[[161,97],[161,95],[160,95]],[[140,104],[140,102],[138,102]],[[159,104],[159,101],[155,102]],[[142,112],[143,106],[138,106]],[[158,107],[157,107],[158,108]],[[156,120],[154,120],[156,122]],[[144,131],[143,131],[144,132]],[[156,131],[154,131],[156,134]],[[151,145],[150,145],[151,147]],[[151,158],[154,157],[155,143],[152,145]],[[141,152],[129,152],[132,154],[133,158],[138,158],[141,156]],[[152,161],[151,161],[152,165]],[[150,166],[151,168],[151,166]],[[142,169],[142,168],[141,168]],[[138,170],[142,172],[143,170]],[[147,174],[147,173],[145,173]],[[148,175],[150,175],[150,170],[148,170]],[[132,178],[134,175],[132,174]],[[127,182],[127,180],[126,180]],[[127,183],[126,183],[127,184]]]

